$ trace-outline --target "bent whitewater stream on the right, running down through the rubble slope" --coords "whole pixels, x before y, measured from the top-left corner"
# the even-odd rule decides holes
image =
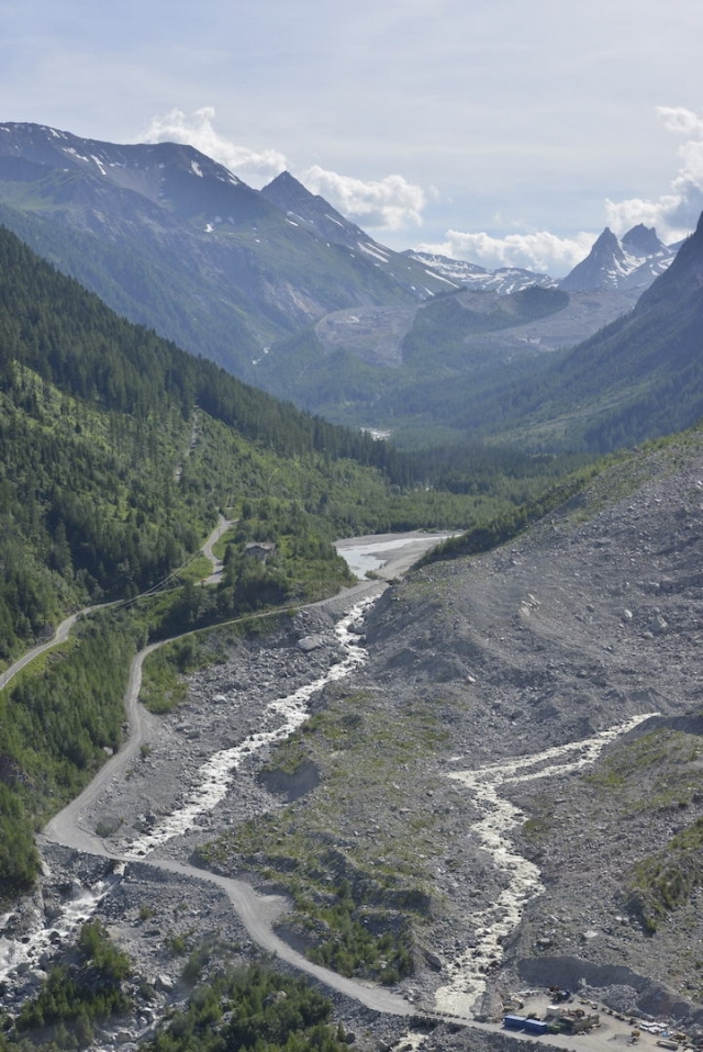
[[[611,741],[655,715],[633,716],[592,738],[555,746],[528,757],[490,763],[478,771],[456,771],[448,775],[476,797],[483,817],[471,827],[471,835],[489,852],[509,883],[495,903],[476,913],[478,944],[453,962],[449,982],[435,992],[435,1005],[439,1011],[466,1016],[476,1008],[486,991],[488,964],[501,960],[504,937],[515,930],[527,903],[544,891],[538,868],[515,851],[510,837],[511,830],[524,820],[524,813],[499,795],[501,787],[556,777],[588,766]]]

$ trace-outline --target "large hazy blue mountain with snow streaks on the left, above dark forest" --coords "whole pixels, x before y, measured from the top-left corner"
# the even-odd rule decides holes
[[[277,190],[315,202],[317,225]],[[324,214],[346,224],[291,177],[265,194],[190,146],[0,125],[0,221],[132,321],[247,379],[263,348],[330,311],[450,287],[353,224],[332,238]]]

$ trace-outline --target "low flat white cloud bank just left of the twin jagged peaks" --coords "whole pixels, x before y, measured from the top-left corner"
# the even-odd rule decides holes
[[[467,259],[489,270],[498,267],[523,267],[555,277],[568,273],[593,246],[594,234],[558,237],[548,231],[532,234],[507,234],[493,237],[486,233],[465,234],[447,231],[446,239],[435,245],[417,245],[421,251],[438,253],[454,259]]]

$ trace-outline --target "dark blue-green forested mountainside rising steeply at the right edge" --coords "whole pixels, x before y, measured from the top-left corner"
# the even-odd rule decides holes
[[[540,418],[537,428],[550,440],[571,435],[603,451],[696,423],[703,416],[702,289],[703,216],[633,311],[555,356],[523,387],[523,421],[532,416],[534,432]],[[504,429],[502,405],[490,412]]]

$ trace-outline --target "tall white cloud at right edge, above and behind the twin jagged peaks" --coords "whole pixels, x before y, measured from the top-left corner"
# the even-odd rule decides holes
[[[657,107],[665,128],[683,137],[679,146],[681,166],[671,191],[655,200],[629,198],[606,200],[609,225],[624,234],[636,223],[656,226],[663,242],[676,242],[695,227],[703,211],[703,117],[685,107]]]

